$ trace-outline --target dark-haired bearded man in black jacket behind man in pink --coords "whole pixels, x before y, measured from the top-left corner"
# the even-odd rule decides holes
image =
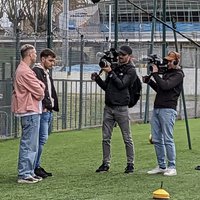
[[[52,176],[52,173],[46,172],[44,168],[40,166],[41,155],[44,144],[47,142],[48,135],[51,132],[53,110],[59,111],[58,98],[56,90],[53,84],[52,77],[49,74],[49,70],[55,65],[56,54],[51,49],[44,49],[40,53],[40,64],[33,68],[36,76],[45,84],[45,97],[42,100],[42,115],[40,120],[40,132],[39,132],[39,149],[38,156],[35,164],[35,174],[42,178]]]

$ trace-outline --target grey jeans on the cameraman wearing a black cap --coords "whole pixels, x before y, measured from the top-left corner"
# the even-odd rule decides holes
[[[134,144],[131,136],[129,119],[128,106],[105,106],[102,126],[103,163],[110,164],[111,137],[116,122],[123,136],[127,163],[134,163]]]

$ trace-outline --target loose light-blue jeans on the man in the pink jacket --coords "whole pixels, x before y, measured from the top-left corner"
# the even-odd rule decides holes
[[[34,166],[38,152],[40,114],[21,117],[18,177],[34,176]]]

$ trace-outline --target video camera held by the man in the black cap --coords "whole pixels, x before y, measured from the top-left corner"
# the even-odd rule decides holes
[[[118,55],[119,53],[114,49],[111,48],[109,51],[105,52],[98,52],[97,57],[99,59],[99,66],[100,68],[105,68],[107,65],[111,66],[112,69],[118,66]]]

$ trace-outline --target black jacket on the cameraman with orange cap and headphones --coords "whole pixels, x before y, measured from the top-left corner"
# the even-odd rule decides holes
[[[176,110],[178,97],[183,89],[184,73],[181,69],[170,69],[162,77],[153,73],[149,85],[157,92],[154,108],[172,108]]]

